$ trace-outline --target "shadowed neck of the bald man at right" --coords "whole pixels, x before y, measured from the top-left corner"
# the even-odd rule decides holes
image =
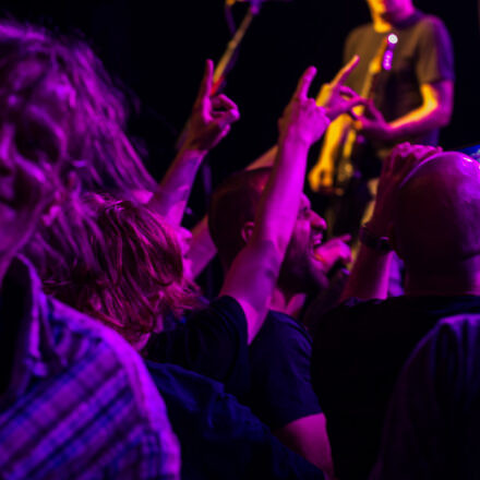
[[[405,293],[411,297],[420,296],[480,296],[480,272],[470,275],[408,275]]]

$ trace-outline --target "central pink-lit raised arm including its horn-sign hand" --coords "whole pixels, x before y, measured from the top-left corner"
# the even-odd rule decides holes
[[[310,67],[302,75],[278,122],[278,153],[262,194],[253,232],[228,271],[220,292],[241,304],[247,316],[249,341],[262,326],[290,241],[309,148],[329,123],[325,108],[308,97],[315,72]]]

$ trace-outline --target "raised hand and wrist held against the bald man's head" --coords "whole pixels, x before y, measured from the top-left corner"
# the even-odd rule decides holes
[[[441,147],[409,143],[401,143],[392,151],[383,164],[369,229],[374,230],[375,235],[388,236],[399,189],[418,165],[440,152]]]

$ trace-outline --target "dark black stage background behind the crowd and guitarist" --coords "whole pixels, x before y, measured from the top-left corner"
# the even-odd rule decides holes
[[[417,0],[442,17],[456,59],[455,111],[442,144],[480,142],[479,16],[476,0]],[[62,32],[82,31],[112,73],[141,105],[131,129],[147,144],[148,168],[158,178],[171,159],[176,133],[185,121],[205,58],[218,60],[229,39],[221,0],[3,2],[3,14]],[[247,9],[233,9],[239,22]],[[319,68],[313,89],[340,67],[347,33],[370,19],[364,0],[266,2],[248,32],[226,93],[241,121],[211,155],[214,183],[241,168],[276,139],[276,120],[309,64]],[[199,189],[194,204],[201,211]],[[202,214],[202,212],[197,212]]]

